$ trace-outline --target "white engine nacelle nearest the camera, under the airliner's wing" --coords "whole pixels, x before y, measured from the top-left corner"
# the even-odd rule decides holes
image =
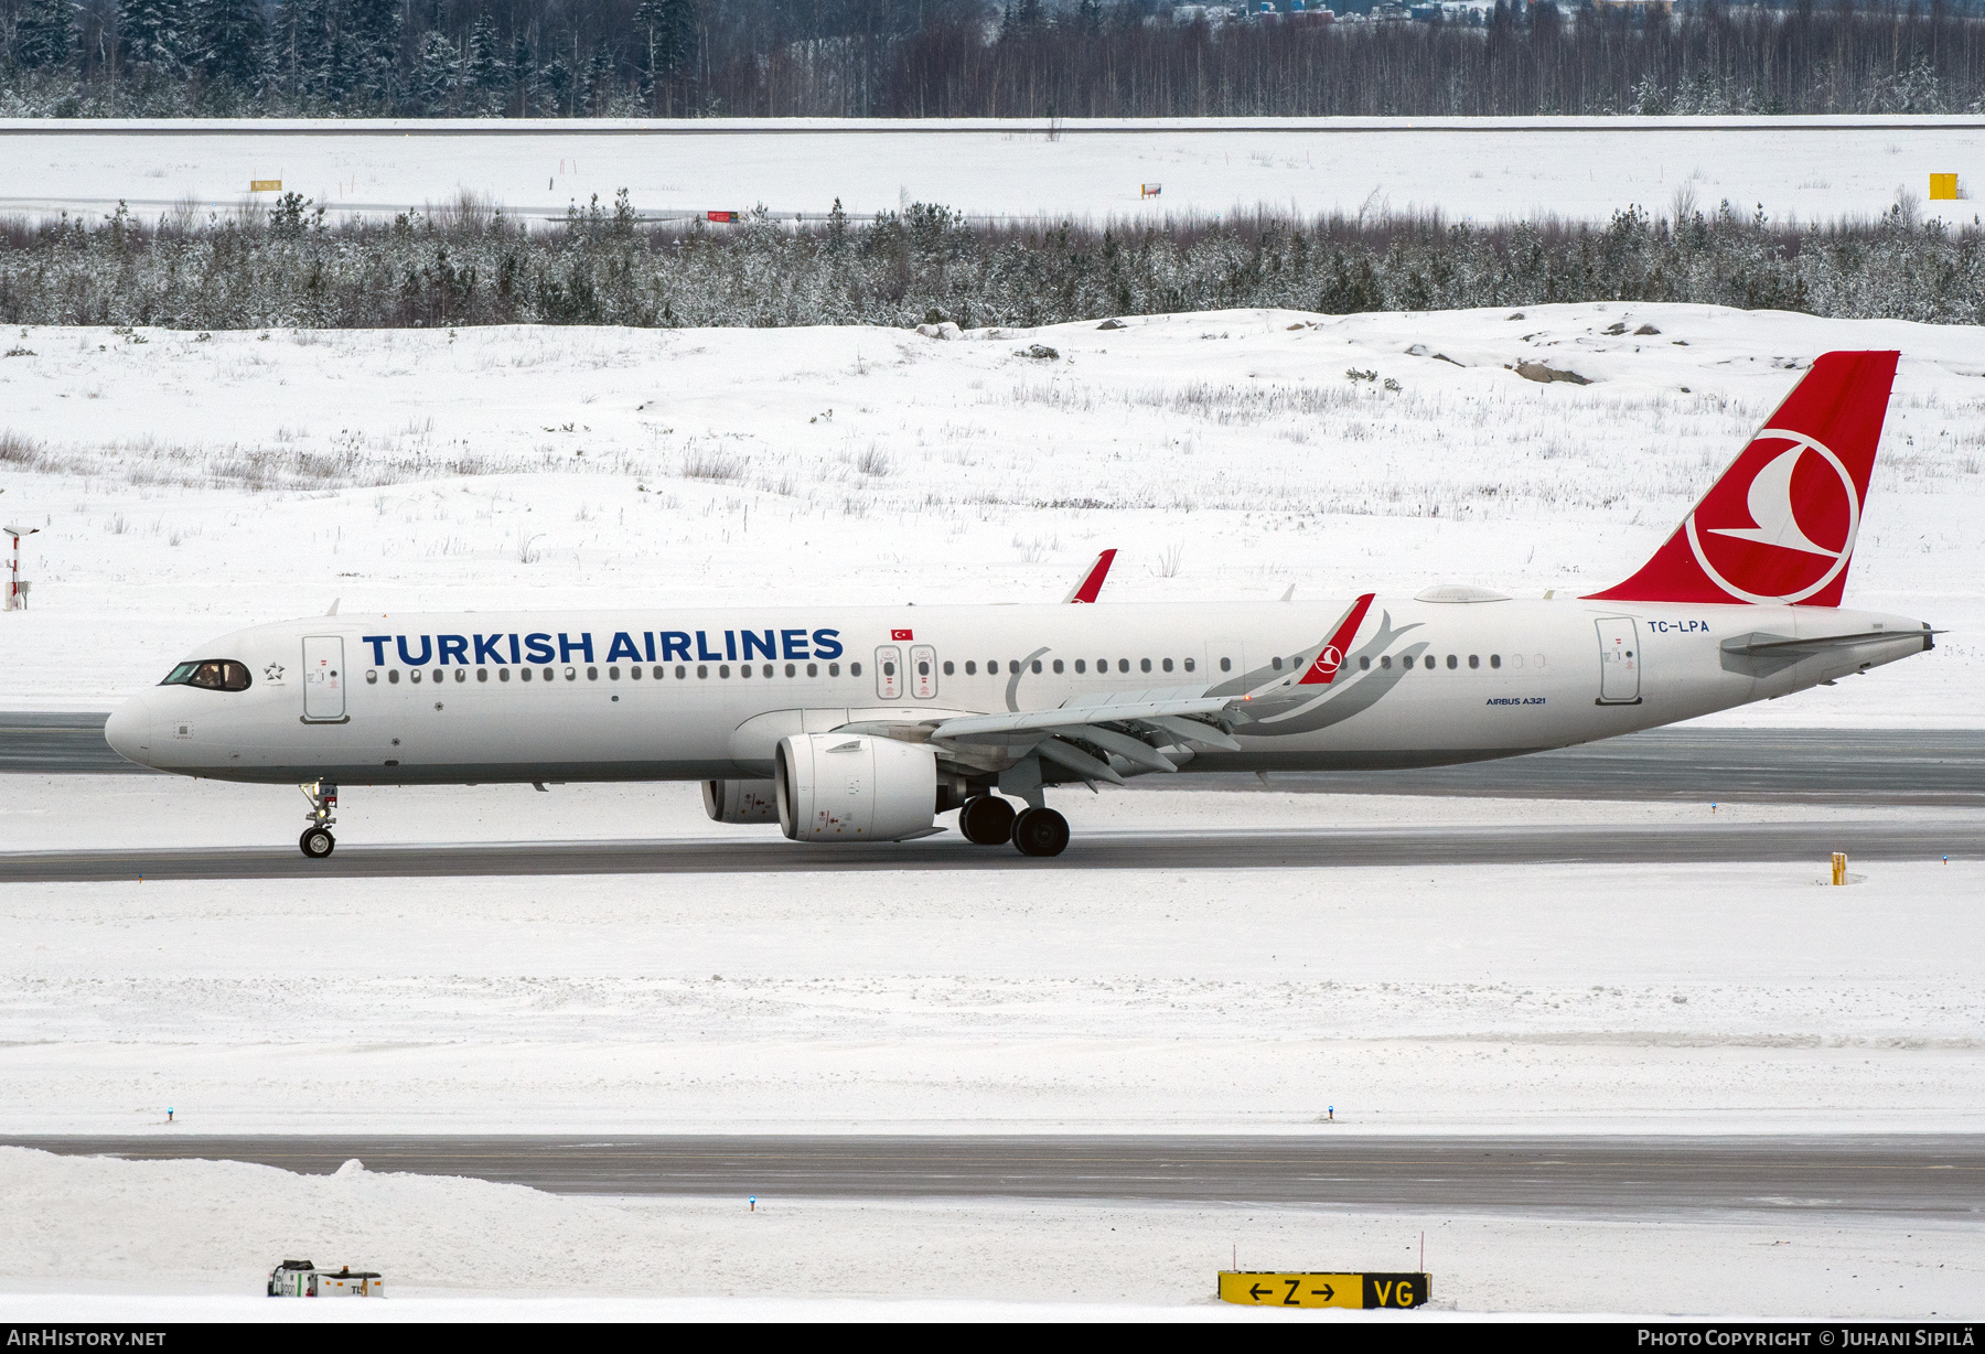
[[[935,832],[937,752],[869,735],[782,739],[778,826],[794,842],[899,842]]]

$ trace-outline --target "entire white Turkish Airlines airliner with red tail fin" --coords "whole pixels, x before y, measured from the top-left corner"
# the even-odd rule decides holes
[[[1840,608],[1896,359],[1814,361],[1667,544],[1576,600],[330,615],[200,645],[105,733],[159,770],[302,782],[316,858],[339,784],[486,780],[701,780],[711,818],[796,842],[957,810],[969,842],[1054,856],[1052,786],[1517,756],[1927,651],[1927,623]]]

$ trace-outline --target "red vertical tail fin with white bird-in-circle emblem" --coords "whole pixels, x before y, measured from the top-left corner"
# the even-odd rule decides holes
[[[1590,596],[1840,606],[1900,357],[1816,357],[1667,544]]]

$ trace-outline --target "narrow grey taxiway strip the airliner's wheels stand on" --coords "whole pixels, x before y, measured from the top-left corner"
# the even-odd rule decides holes
[[[846,870],[1280,870],[1469,864],[1691,864],[1985,860],[1985,824],[1729,824],[1382,828],[1344,832],[1100,832],[1034,860],[945,834],[875,846],[790,842],[492,842],[349,846],[330,860],[288,848],[0,852],[0,883],[109,880],[304,880],[546,874],[794,874]]]

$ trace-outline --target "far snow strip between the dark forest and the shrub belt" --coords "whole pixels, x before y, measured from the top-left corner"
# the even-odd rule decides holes
[[[351,135],[89,135],[44,119],[0,123],[0,210],[141,214],[179,203],[232,208],[280,179],[333,212],[381,214],[476,193],[516,212],[562,214],[627,189],[645,212],[852,214],[941,203],[973,214],[1161,218],[1231,210],[1298,214],[1441,210],[1449,220],[1655,214],[1685,195],[1779,220],[1876,216],[1931,173],[1985,191],[1985,117],[1503,117],[691,123],[695,135],[601,135],[643,123],[363,123]],[[850,131],[850,127],[858,131]],[[6,133],[34,133],[12,135]],[[54,133],[54,135],[52,135]],[[1163,195],[1139,197],[1145,183]],[[274,195],[256,195],[270,201]],[[1919,203],[1971,222],[1975,201]]]

